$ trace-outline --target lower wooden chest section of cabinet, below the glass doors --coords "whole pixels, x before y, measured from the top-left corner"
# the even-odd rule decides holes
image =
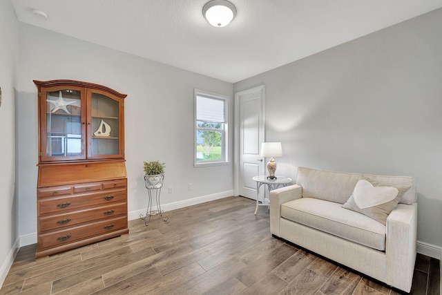
[[[39,162],[36,258],[129,231],[124,160],[59,160]]]

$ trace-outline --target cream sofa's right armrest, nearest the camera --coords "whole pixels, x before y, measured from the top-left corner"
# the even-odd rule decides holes
[[[398,204],[387,218],[387,280],[410,290],[416,261],[417,203]],[[394,282],[394,283],[393,283]]]

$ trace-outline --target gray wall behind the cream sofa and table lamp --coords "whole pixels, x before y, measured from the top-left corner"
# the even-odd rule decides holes
[[[234,84],[265,84],[278,174],[410,175],[418,239],[442,247],[442,9]]]

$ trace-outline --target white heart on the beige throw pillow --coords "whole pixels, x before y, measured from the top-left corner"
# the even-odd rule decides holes
[[[367,180],[359,180],[354,187],[353,198],[359,208],[365,209],[394,200],[398,192],[396,187],[374,187]]]

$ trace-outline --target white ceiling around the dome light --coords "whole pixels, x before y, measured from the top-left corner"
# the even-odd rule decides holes
[[[209,0],[9,1],[24,23],[232,83],[442,7],[442,0],[230,0],[236,18],[215,28],[202,16]]]

